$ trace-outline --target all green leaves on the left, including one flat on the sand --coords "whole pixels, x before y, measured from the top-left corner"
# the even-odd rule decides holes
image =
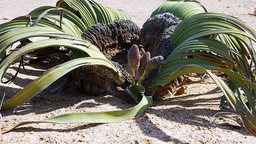
[[[101,67],[109,68],[109,71],[115,76],[116,81],[120,81],[120,76],[113,63],[111,63],[97,47],[81,39],[82,32],[93,24],[97,24],[98,22],[109,23],[113,22],[115,19],[129,20],[131,17],[122,10],[111,10],[111,8],[102,6],[95,1],[63,0],[58,1],[57,7],[43,6],[36,8],[29,13],[29,15],[18,17],[11,22],[1,24],[0,58],[1,61],[3,61],[1,63],[1,79],[3,78],[4,72],[6,72],[7,68],[15,59],[31,51],[49,49],[51,52],[52,47],[54,49],[67,47],[71,49],[75,56],[74,60],[67,61],[66,63],[48,70],[42,77],[36,79],[33,83],[24,88],[24,90],[13,96],[12,99],[4,102],[2,110],[19,106],[23,102],[31,99],[31,97],[34,97],[36,93],[42,92],[42,90],[56,81],[56,79],[83,65],[100,65]],[[15,42],[28,40],[28,38],[37,36],[48,37],[49,39],[38,40],[31,44],[23,45],[22,49],[12,53],[10,52]],[[143,91],[141,94],[142,93]],[[144,97],[141,104],[125,111],[115,111],[115,113],[70,114],[43,120],[41,122],[118,122],[141,115],[145,108],[147,108],[148,100],[150,101],[150,97]],[[95,115],[94,118],[92,115]],[[100,115],[105,117],[105,119],[96,118]],[[82,119],[81,116],[83,117]],[[24,122],[22,124],[29,123],[33,122]]]

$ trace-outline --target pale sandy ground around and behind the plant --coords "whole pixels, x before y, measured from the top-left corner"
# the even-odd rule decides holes
[[[164,1],[110,1],[103,4],[127,11],[139,26],[148,19]],[[209,12],[234,15],[256,29],[256,17],[248,15],[256,8],[255,0],[202,0]],[[38,6],[54,5],[56,0],[1,0],[0,23],[26,15]],[[5,19],[5,20],[4,20]],[[16,65],[17,66],[17,65]],[[26,67],[29,74],[20,70],[12,84],[0,84],[0,95],[8,97],[19,92],[33,79],[40,76],[51,65],[38,63]],[[8,70],[13,74],[15,65]],[[113,124],[33,124],[3,134],[1,143],[255,143],[256,138],[246,129],[234,129],[225,125],[224,120],[209,125],[211,116],[220,111],[220,97],[223,95],[212,81],[201,81],[198,77],[186,79],[187,89],[178,95],[161,102],[135,120]],[[13,111],[3,111],[3,126],[10,126],[24,120],[38,120],[73,112],[109,111],[131,108],[115,97],[90,97],[76,90],[65,95],[49,95],[45,92],[29,100]],[[230,124],[237,125],[236,122]]]

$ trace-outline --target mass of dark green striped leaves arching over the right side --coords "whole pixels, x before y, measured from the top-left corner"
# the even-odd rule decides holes
[[[173,32],[175,49],[164,61],[152,91],[184,74],[207,73],[255,135],[255,34],[241,20],[221,13],[198,13],[184,19]],[[229,86],[209,70],[225,73]]]

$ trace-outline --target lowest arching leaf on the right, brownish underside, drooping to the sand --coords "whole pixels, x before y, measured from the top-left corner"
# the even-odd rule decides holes
[[[224,68],[213,68],[213,67],[206,67],[206,68],[211,69],[211,70],[218,70],[221,72],[225,72],[225,74],[227,74],[227,76],[230,77],[230,79],[233,79],[234,81],[236,81],[236,83],[239,84],[239,86],[242,86],[245,84],[245,85],[249,86],[249,88],[251,88],[253,90],[253,92],[255,92],[255,90],[256,90],[255,84],[251,83],[245,77],[241,76],[240,74],[237,74],[236,72],[232,72],[231,70],[227,70]],[[232,90],[230,90],[230,88],[227,86],[227,84],[220,77],[215,76],[214,74],[212,74],[211,72],[209,72],[208,70],[206,70],[205,68],[203,68],[199,65],[193,65],[193,63],[191,63],[191,65],[188,64],[185,67],[177,68],[172,73],[170,73],[170,75],[168,76],[168,78],[166,77],[166,79],[168,79],[168,81],[172,81],[172,79],[175,79],[175,77],[179,77],[179,76],[183,76],[183,75],[191,74],[191,73],[209,74],[209,76],[212,77],[214,82],[222,90],[222,92],[224,93],[228,102],[230,102],[230,106],[232,106],[234,111],[236,111],[236,113],[239,116],[241,116],[241,118],[244,121],[244,125],[246,126],[248,131],[252,132],[252,134],[256,133],[256,117],[255,117],[255,115],[253,115],[248,110],[246,105],[244,105],[243,102],[241,102],[241,100],[232,92]],[[167,81],[165,81],[165,82],[167,82]],[[165,84],[166,83],[161,83],[161,80],[159,79],[159,81],[157,81],[154,86],[157,86],[157,85],[164,86]],[[250,93],[252,93],[252,92],[250,92]],[[248,95],[250,93],[246,93],[246,95]],[[255,102],[255,99],[253,101]]]

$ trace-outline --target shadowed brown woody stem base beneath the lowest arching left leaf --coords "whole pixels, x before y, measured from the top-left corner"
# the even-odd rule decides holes
[[[111,70],[98,65],[84,66],[72,71],[74,82],[80,90],[90,95],[112,94],[120,97],[122,89],[131,85],[132,77],[122,65],[112,61],[122,76],[122,83],[115,81]]]

